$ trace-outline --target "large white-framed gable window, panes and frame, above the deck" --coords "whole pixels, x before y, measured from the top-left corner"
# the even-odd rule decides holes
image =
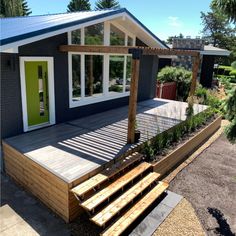
[[[135,36],[104,22],[68,33],[69,44],[134,46]],[[131,55],[68,53],[70,107],[129,96]]]

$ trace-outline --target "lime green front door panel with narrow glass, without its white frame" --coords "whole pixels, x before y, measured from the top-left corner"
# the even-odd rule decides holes
[[[28,126],[49,122],[48,63],[25,61]]]

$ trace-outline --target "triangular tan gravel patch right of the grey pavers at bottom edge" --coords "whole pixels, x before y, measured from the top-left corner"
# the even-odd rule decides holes
[[[182,199],[153,236],[204,236],[204,230],[191,204]]]

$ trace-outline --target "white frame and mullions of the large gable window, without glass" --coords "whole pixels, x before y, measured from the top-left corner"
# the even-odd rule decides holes
[[[113,24],[119,30],[125,33],[125,46],[128,44],[128,37],[133,39],[133,46],[135,46],[135,35],[128,32],[122,26],[115,22],[105,21],[99,22],[104,24],[104,45],[110,46],[110,25]],[[88,25],[89,26],[89,25]],[[87,26],[86,26],[87,27]],[[81,44],[85,45],[85,34],[84,28],[81,27],[77,30],[81,30]],[[75,29],[76,30],[76,29]],[[68,44],[72,44],[72,31],[68,32]],[[80,55],[80,78],[81,78],[81,97],[77,100],[73,100],[73,78],[72,78],[72,55]],[[102,55],[103,56],[103,94],[101,96],[85,97],[85,55]],[[110,93],[109,92],[109,63],[110,56],[124,56],[124,71],[123,71],[123,92],[121,93]],[[112,99],[127,97],[130,95],[130,91],[125,91],[126,84],[126,69],[127,69],[127,57],[132,56],[131,54],[116,54],[116,53],[81,53],[81,52],[68,52],[68,75],[69,75],[69,107],[75,108],[79,106],[89,105],[93,103],[108,101]]]

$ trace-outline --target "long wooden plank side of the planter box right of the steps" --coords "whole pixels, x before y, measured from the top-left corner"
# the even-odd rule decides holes
[[[221,125],[222,117],[216,118],[212,123],[197,133],[194,137],[186,141],[183,145],[168,154],[162,160],[154,163],[153,171],[158,172],[161,176],[170,172],[174,167],[181,164],[196,148],[215,133]]]

